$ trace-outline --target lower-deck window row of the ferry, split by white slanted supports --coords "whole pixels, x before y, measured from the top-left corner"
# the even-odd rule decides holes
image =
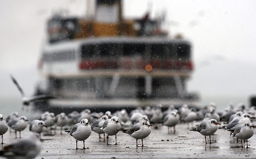
[[[92,97],[105,97],[107,95],[112,97],[136,97],[146,94],[143,78],[121,78],[114,94],[109,94],[108,90],[111,80],[111,78],[54,80],[51,88],[55,88],[55,94],[62,96],[67,93]],[[155,97],[169,97],[170,94],[178,94],[172,78],[153,78],[151,89],[151,96]]]

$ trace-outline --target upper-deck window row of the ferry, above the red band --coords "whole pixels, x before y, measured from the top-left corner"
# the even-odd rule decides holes
[[[81,58],[88,59],[91,57],[123,57],[123,56],[141,56],[141,57],[151,57],[151,58],[185,58],[190,57],[190,45],[188,44],[177,44],[177,45],[167,45],[167,44],[100,44],[100,45],[83,45],[81,49]],[[60,50],[55,52],[44,52],[43,61],[44,62],[54,62],[54,61],[72,61],[75,60],[78,55],[75,50]]]

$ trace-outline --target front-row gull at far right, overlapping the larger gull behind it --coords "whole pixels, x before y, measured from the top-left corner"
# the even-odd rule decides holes
[[[231,130],[232,131],[232,130]],[[238,125],[234,131],[233,136],[237,137],[238,139],[241,139],[242,148],[243,148],[243,142],[242,140],[246,140],[246,144],[248,147],[248,139],[251,138],[254,134],[253,125],[251,122],[245,122],[244,124]]]

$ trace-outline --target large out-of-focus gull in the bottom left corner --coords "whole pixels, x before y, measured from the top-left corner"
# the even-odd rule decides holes
[[[41,151],[41,143],[37,134],[31,133],[27,138],[15,140],[3,147],[0,156],[8,159],[32,159]]]

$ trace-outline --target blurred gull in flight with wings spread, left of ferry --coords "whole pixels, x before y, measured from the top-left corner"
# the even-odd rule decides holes
[[[11,74],[10,74],[10,77],[11,77],[12,82],[16,85],[16,87],[20,91],[20,93],[23,97],[22,104],[25,106],[29,106],[31,102],[37,102],[40,100],[48,100],[48,99],[58,98],[57,96],[52,96],[52,95],[38,95],[38,96],[33,96],[33,97],[25,97],[25,94],[24,94],[21,86],[19,85],[19,83],[15,80],[15,78]],[[22,107],[22,110],[24,110],[23,107]]]

